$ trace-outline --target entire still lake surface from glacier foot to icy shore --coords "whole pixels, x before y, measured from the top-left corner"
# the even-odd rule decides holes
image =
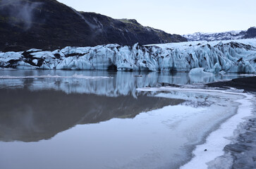
[[[178,168],[242,96],[141,91],[240,75],[0,71],[0,168]]]

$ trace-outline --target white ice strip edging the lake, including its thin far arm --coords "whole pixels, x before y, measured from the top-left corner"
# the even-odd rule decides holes
[[[150,88],[138,89],[139,91],[152,91]],[[154,90],[154,89],[153,89]],[[193,158],[190,159],[180,168],[221,168],[227,162],[219,163],[215,161],[220,156],[224,156],[226,152],[224,147],[228,144],[233,144],[233,138],[236,137],[234,134],[237,131],[238,126],[245,123],[245,118],[250,118],[252,115],[252,99],[253,94],[247,94],[240,91],[223,90],[223,89],[209,89],[209,88],[186,88],[186,87],[160,87],[155,88],[156,91],[188,91],[188,92],[212,92],[212,93],[223,93],[223,94],[236,94],[243,96],[243,99],[233,100],[238,104],[237,113],[231,118],[228,118],[224,123],[220,124],[217,130],[210,132],[205,138],[205,142],[197,144],[195,149],[192,151]],[[205,151],[205,149],[207,149]],[[225,159],[226,160],[226,159]],[[227,164],[223,169],[229,168],[233,165],[233,158],[228,159]],[[212,164],[213,163],[213,164]],[[211,166],[209,166],[211,165]]]

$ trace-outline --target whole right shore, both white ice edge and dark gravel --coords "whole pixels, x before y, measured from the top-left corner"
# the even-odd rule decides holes
[[[223,92],[245,97],[235,101],[240,104],[237,113],[222,123],[219,129],[211,132],[206,137],[205,143],[198,144],[193,150],[193,158],[180,168],[256,168],[256,111],[254,111],[256,106],[253,100],[256,86],[254,84],[256,84],[256,76],[212,82],[205,84],[201,89],[162,85],[173,90]],[[239,90],[236,92],[236,89],[243,89],[243,92]]]

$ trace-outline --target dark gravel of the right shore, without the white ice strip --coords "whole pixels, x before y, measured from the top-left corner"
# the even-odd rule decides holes
[[[227,82],[212,82],[206,84],[207,87],[225,88],[234,87],[243,89],[244,92],[251,93],[252,98],[256,94],[256,76],[243,77],[233,79]],[[256,104],[251,100],[252,115],[245,119],[245,122],[240,123],[234,131],[235,135],[231,144],[224,147],[225,154],[215,159],[215,162],[222,161],[226,163],[230,161],[228,168],[256,168]],[[217,165],[212,162],[209,165]],[[221,166],[215,166],[221,167]]]

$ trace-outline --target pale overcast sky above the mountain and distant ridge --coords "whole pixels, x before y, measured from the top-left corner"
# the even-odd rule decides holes
[[[256,26],[256,0],[58,0],[77,11],[136,19],[169,33],[223,32]]]

